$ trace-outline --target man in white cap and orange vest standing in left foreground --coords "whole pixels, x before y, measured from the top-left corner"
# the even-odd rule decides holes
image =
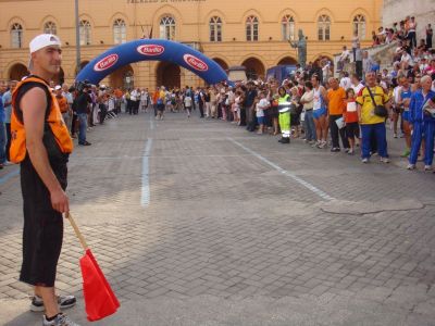
[[[24,205],[23,264],[20,280],[34,286],[32,311],[45,311],[44,326],[78,326],[61,309],[73,296],[57,296],[55,273],[63,240],[63,217],[70,211],[66,163],[73,150],[70,133],[49,82],[59,74],[60,39],[50,34],[29,45],[30,75],[12,96],[11,161],[21,164]]]

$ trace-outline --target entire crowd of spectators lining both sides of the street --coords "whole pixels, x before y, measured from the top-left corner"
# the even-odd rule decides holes
[[[157,120],[163,120],[167,112],[185,112],[187,118],[198,112],[200,118],[222,120],[259,135],[281,135],[282,143],[301,138],[312,148],[359,153],[363,163],[373,154],[388,163],[388,123],[394,138],[405,139],[402,156],[408,158],[408,168],[415,168],[421,154],[424,168],[430,171],[435,133],[435,53],[431,48],[431,25],[419,43],[415,27],[415,20],[407,17],[393,28],[381,27],[374,34],[374,45],[398,41],[391,68],[380,70],[356,36],[352,51],[344,47],[336,67],[338,78],[333,77],[333,63],[323,58],[308,63],[306,68],[297,65],[284,80],[259,78],[235,85],[173,89],[161,86],[154,91],[87,84],[51,87],[71,137],[78,137],[79,146],[90,146],[87,131],[122,112],[137,115],[152,110]],[[356,65],[348,72],[343,67],[352,54]],[[16,82],[0,83],[0,168],[9,164],[15,86]]]

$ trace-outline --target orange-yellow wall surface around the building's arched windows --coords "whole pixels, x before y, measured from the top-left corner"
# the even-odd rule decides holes
[[[151,29],[159,37],[159,22],[164,15],[176,21],[176,41],[199,42],[203,53],[219,58],[228,66],[241,65],[249,58],[257,58],[264,68],[276,65],[281,59],[297,59],[295,49],[283,40],[281,21],[284,15],[295,20],[308,37],[308,61],[320,55],[333,57],[344,45],[350,46],[352,20],[357,14],[365,17],[365,40],[371,43],[371,32],[381,24],[382,0],[79,0],[79,17],[91,24],[91,45],[82,47],[82,61],[90,61],[113,47],[112,25],[116,18],[127,24],[127,41],[142,37]],[[331,17],[331,40],[318,40],[318,17]],[[222,42],[209,41],[209,21],[220,16],[223,22]],[[259,41],[246,41],[246,18],[259,18]],[[40,34],[44,24],[57,24],[63,41],[63,71],[66,83],[72,83],[76,72],[75,17],[73,0],[0,0],[0,79],[8,79],[16,63],[27,64],[28,42]],[[10,29],[20,23],[24,29],[22,49],[11,49]],[[67,45],[66,45],[67,42]],[[156,87],[157,62],[132,64],[135,84]],[[191,73],[182,70],[182,85],[199,83]],[[103,83],[109,84],[107,78]]]

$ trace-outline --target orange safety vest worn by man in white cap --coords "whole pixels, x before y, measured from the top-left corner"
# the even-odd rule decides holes
[[[10,149],[10,159],[14,163],[20,163],[26,158],[27,149],[26,149],[26,130],[24,128],[23,122],[16,116],[15,110],[17,109],[16,96],[18,95],[20,88],[27,83],[38,83],[47,87],[48,92],[51,96],[51,106],[50,113],[46,117],[46,123],[49,124],[55,142],[59,146],[59,149],[62,153],[71,153],[73,151],[73,141],[70,137],[70,133],[66,128],[66,125],[62,118],[61,110],[59,109],[59,103],[55,99],[55,96],[51,93],[50,87],[47,83],[36,76],[30,76],[18,83],[14,92],[12,93],[12,116],[11,116],[11,149]]]

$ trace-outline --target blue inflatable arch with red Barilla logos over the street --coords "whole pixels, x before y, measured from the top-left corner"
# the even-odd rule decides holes
[[[226,82],[228,78],[216,62],[190,47],[170,40],[140,39],[116,46],[100,54],[78,73],[76,82],[89,80],[98,84],[117,68],[145,60],[173,62],[210,85]]]

